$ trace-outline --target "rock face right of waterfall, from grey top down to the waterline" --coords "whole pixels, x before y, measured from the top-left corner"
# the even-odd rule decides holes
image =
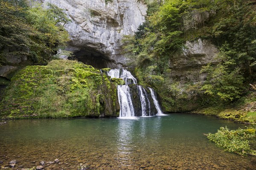
[[[181,54],[170,59],[169,80],[176,88],[176,96],[161,101],[164,111],[186,112],[198,109],[196,89],[207,77],[207,74],[200,73],[201,69],[208,63],[218,62],[215,57],[219,50],[207,40],[187,41],[185,46]],[[166,99],[166,96],[161,98]]]

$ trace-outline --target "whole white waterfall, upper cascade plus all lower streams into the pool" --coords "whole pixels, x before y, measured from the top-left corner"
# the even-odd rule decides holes
[[[111,69],[108,71],[108,76],[111,78],[121,78],[125,81],[125,85],[117,86],[117,93],[120,105],[119,118],[131,119],[136,116],[154,116],[156,113],[151,113],[150,101],[154,103],[155,108],[153,111],[157,111],[156,115],[163,115],[160,105],[157,101],[155,92],[152,88],[149,88],[151,95],[147,94],[147,91],[143,86],[137,85],[137,79],[131,74],[130,71],[125,69]],[[132,96],[131,87],[137,87],[136,94],[139,96],[140,101],[136,101],[136,97]],[[136,95],[135,95],[136,96]],[[151,99],[149,99],[151,96]],[[140,102],[140,103],[139,103]],[[134,108],[134,106],[139,105],[139,111]],[[137,106],[138,108],[138,106]],[[156,109],[156,110],[155,110]],[[139,112],[139,113],[137,113]]]

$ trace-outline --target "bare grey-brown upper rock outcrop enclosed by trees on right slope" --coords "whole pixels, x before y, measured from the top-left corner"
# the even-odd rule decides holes
[[[184,82],[202,82],[205,74],[200,74],[201,68],[208,63],[214,63],[214,58],[219,53],[218,48],[207,40],[187,41],[183,54],[171,59],[171,80]]]

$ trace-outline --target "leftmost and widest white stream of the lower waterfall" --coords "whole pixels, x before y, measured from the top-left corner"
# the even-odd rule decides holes
[[[119,117],[133,117],[134,108],[131,101],[130,88],[128,85],[117,86],[118,99],[120,104]]]

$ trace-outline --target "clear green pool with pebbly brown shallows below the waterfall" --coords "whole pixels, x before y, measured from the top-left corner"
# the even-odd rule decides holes
[[[253,157],[227,153],[203,133],[241,124],[212,116],[171,114],[127,119],[14,120],[0,126],[0,161],[17,159],[15,168],[41,161],[61,163],[45,169],[225,169],[254,170]],[[14,168],[14,169],[15,169]]]

